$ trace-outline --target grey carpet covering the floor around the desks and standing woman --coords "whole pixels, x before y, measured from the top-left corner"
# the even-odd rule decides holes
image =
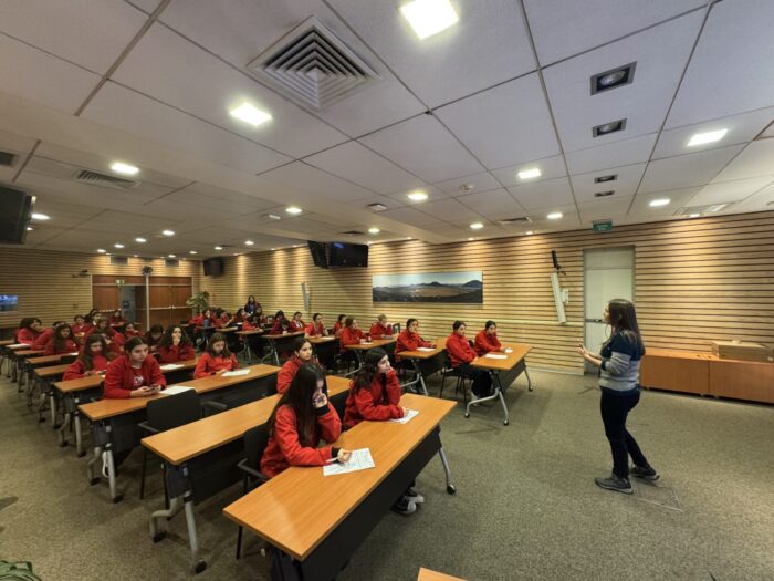
[[[433,459],[417,481],[426,504],[385,516],[338,579],[409,580],[419,567],[469,580],[774,579],[774,407],[646,392],[629,426],[662,478],[625,496],[593,483],[610,468],[595,380],[532,377],[534,392],[520,378],[508,393],[510,426],[499,406],[443,422],[458,494],[446,494]],[[164,499],[155,473],[155,494],[138,500],[140,454],[122,467],[125,500],[112,505],[4,377],[0,404],[0,559],[30,560],[48,580],[194,577],[181,515],[168,539],[148,538]],[[209,562],[197,579],[269,578],[249,535],[233,558],[236,526],[221,510],[238,496],[197,508]]]

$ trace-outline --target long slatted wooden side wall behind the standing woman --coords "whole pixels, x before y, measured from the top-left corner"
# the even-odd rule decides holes
[[[582,373],[575,345],[584,339],[583,251],[635,246],[635,299],[648,345],[710,351],[713,339],[774,344],[774,212],[676,220],[431,246],[420,241],[375,245],[368,269],[323,270],[306,248],[228,258],[226,276],[200,278],[218,305],[234,308],[255,294],[266,312],[312,312],[328,324],[338,313],[367,326],[379,312],[390,321],[420,320],[426,338],[447,335],[454,319],[474,333],[487,319],[505,341],[534,345],[530,364]],[[551,290],[551,250],[567,276],[567,323],[556,322]],[[401,304],[372,302],[372,274],[482,270],[484,302]],[[304,313],[308,318],[310,313]],[[470,333],[472,335],[472,333]]]

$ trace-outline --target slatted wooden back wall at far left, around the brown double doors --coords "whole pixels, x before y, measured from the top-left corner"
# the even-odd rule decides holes
[[[38,317],[43,324],[72,320],[92,308],[92,274],[116,274],[129,282],[127,277],[140,274],[144,266],[153,267],[153,276],[191,277],[194,292],[198,289],[201,268],[195,261],[166,267],[164,260],[129,258],[127,266],[113,266],[106,256],[0,248],[0,294],[19,295],[19,311],[0,313],[0,328],[15,328],[24,317]],[[79,277],[83,269],[88,276]]]

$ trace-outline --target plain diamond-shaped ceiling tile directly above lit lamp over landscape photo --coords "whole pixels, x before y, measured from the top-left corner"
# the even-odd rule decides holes
[[[419,115],[362,137],[359,142],[425,181],[441,181],[483,170],[437,118]]]

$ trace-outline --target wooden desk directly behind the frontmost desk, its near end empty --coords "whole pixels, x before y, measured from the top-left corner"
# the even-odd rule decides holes
[[[346,392],[349,381],[327,378],[328,396]],[[237,464],[244,457],[242,436],[255,426],[265,424],[280,401],[280,394],[199,419],[175,429],[143,438],[143,446],[165,461],[164,475],[171,499],[169,509],[150,516],[150,536],[154,542],[166,537],[168,519],[185,509],[191,567],[197,573],[207,568],[199,558],[199,543],[194,520],[194,505],[224,490],[239,481]]]

